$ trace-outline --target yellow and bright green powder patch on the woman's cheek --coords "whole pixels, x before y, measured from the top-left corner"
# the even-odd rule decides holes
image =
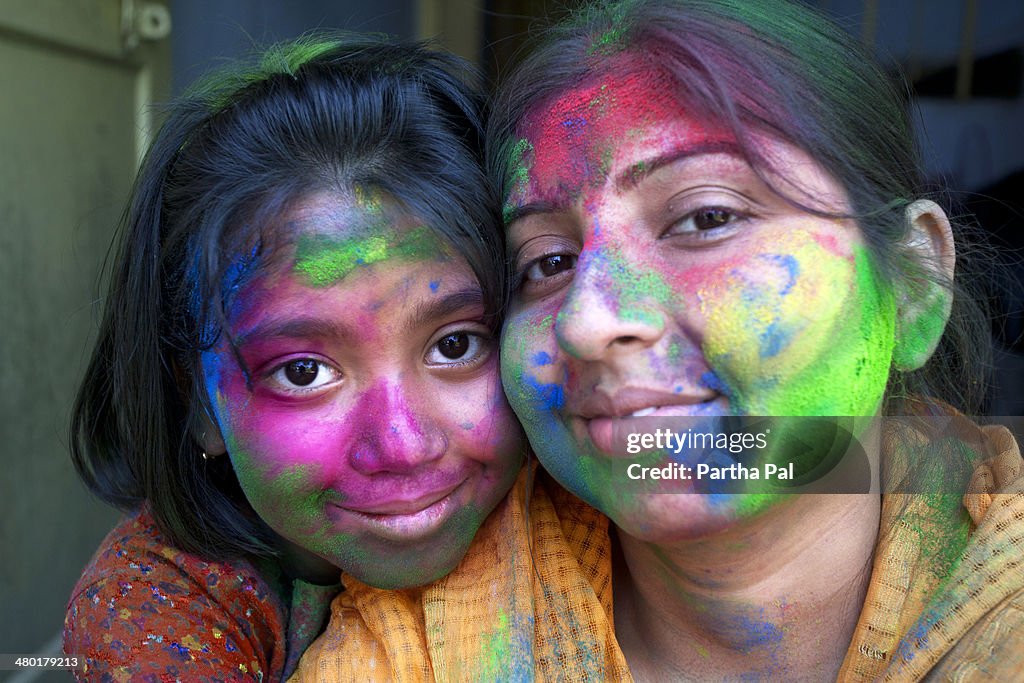
[[[740,413],[873,415],[892,358],[892,296],[864,247],[854,247],[851,268],[803,231],[794,232],[793,243],[794,258],[813,267],[806,273],[785,267],[801,273],[779,288],[786,295],[734,273],[699,293],[708,318],[705,355]]]

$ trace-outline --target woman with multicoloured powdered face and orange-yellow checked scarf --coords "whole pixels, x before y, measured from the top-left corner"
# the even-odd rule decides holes
[[[633,676],[1019,676],[1020,456],[942,402],[971,408],[977,328],[873,61],[802,5],[598,3],[494,111],[506,393],[542,464],[614,523]],[[666,435],[754,416],[797,440],[771,422],[741,454]],[[800,442],[791,477],[815,483],[833,450],[794,416],[846,429],[864,486],[765,481]]]

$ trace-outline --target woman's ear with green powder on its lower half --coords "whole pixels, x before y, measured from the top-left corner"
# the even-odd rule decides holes
[[[893,366],[901,372],[923,367],[935,352],[952,307],[956,250],[945,211],[935,202],[918,200],[906,208],[904,246],[920,270],[897,284],[896,346]]]

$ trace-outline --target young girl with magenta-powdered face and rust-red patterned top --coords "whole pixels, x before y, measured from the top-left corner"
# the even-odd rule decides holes
[[[73,456],[129,511],[68,607],[88,680],[282,680],[341,570],[447,573],[511,486],[479,98],[303,40],[171,111],[125,214]]]

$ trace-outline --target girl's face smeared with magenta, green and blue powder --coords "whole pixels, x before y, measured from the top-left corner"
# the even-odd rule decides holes
[[[385,588],[462,559],[523,441],[469,266],[356,193],[298,203],[245,278],[229,346],[203,355],[242,488],[299,547]]]

